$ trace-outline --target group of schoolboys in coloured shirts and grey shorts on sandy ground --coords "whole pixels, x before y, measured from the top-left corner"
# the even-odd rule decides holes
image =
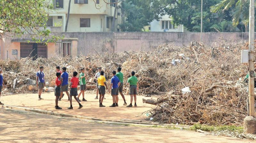
[[[39,68],[40,70],[36,74],[36,86],[38,87],[38,100],[42,100],[41,98],[41,93],[43,91],[43,88],[45,86],[45,80],[44,80],[44,67],[41,66]],[[83,100],[84,99],[84,91],[86,90],[86,80],[85,80],[85,69],[81,68],[80,71],[81,73],[79,74],[79,78],[77,78],[77,72],[73,72],[73,77],[70,80],[70,92],[68,93],[68,73],[66,72],[66,67],[62,67],[62,71],[60,71],[60,66],[56,66],[56,79],[55,79],[55,87],[54,87],[54,95],[56,96],[55,98],[55,109],[62,109],[61,107],[58,106],[58,101],[61,101],[63,98],[63,92],[66,92],[68,96],[68,101],[70,101],[70,107],[68,109],[73,109],[72,106],[72,96],[74,96],[74,99],[76,102],[79,104],[78,109],[81,109],[83,105],[81,105],[81,101],[79,100],[80,95],[83,95]],[[137,95],[137,90],[139,89],[138,85],[138,79],[134,76],[135,72],[131,72],[131,77],[127,80],[127,85],[130,85],[130,96],[131,96],[131,103],[126,106],[126,107],[132,107],[132,102],[134,98],[134,106],[137,107],[136,104],[136,95]],[[113,104],[110,105],[109,107],[118,107],[118,93],[122,96],[124,100],[123,105],[127,105],[125,101],[125,97],[123,94],[123,87],[124,87],[124,77],[123,73],[121,72],[121,67],[117,68],[117,73],[116,71],[112,71],[112,78],[111,78],[111,85],[109,88],[109,93],[112,95],[112,100]],[[98,68],[98,72],[95,74],[95,79],[97,80],[97,92],[96,92],[96,97],[95,99],[98,99],[98,94],[100,94],[99,98],[99,107],[106,107],[102,104],[103,100],[106,99],[104,96],[106,94],[106,90],[108,90],[108,86],[106,84],[106,77],[104,74],[104,71],[101,70],[101,68]],[[1,76],[0,76],[1,80]],[[77,86],[80,83],[80,93],[77,94]],[[0,87],[1,88],[1,87]],[[0,94],[1,95],[1,94]],[[78,97],[76,97],[78,96]],[[1,103],[1,102],[0,102]]]

